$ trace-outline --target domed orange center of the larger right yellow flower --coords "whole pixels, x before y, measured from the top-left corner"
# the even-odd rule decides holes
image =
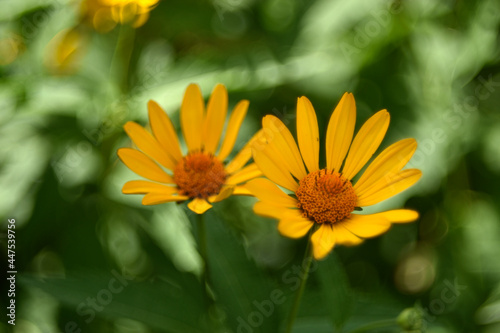
[[[316,223],[335,223],[356,208],[358,197],[351,182],[327,169],[312,172],[300,180],[295,192],[304,217]]]

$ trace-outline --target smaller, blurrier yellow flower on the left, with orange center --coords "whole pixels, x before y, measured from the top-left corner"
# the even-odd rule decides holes
[[[125,131],[139,150],[120,148],[118,156],[130,170],[151,181],[129,181],[122,192],[145,194],[143,205],[191,200],[188,207],[197,214],[203,214],[212,207],[211,203],[231,194],[249,195],[240,184],[262,175],[255,163],[245,166],[252,157],[250,145],[257,135],[231,162],[224,163],[234,147],[248,104],[242,100],[234,107],[216,154],[226,120],[227,90],[222,84],[216,85],[205,111],[200,88],[189,85],[180,111],[188,148],[183,155],[170,118],[156,102],[149,101],[153,133],[135,122],[126,123]]]

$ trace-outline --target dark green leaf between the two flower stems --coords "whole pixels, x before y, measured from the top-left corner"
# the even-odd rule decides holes
[[[278,332],[283,293],[272,287],[237,237],[214,214],[206,214],[205,222],[210,281],[216,303],[226,312],[231,329]]]

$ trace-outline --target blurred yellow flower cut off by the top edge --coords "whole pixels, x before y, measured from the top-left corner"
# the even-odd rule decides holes
[[[111,31],[117,24],[142,26],[159,0],[84,0],[82,16],[99,32]]]

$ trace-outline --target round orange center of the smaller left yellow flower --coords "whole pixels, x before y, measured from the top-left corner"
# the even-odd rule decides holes
[[[206,199],[219,194],[226,181],[226,171],[224,165],[213,155],[193,152],[175,166],[174,181],[179,194]]]

